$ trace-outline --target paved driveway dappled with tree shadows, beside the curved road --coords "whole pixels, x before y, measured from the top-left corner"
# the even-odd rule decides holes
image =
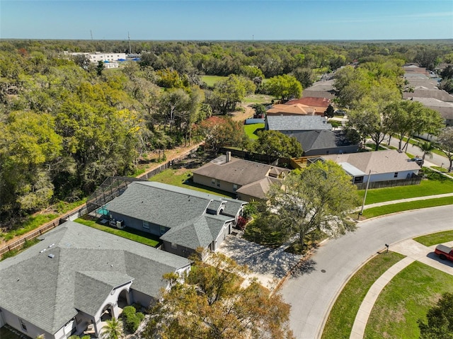
[[[232,234],[226,236],[217,252],[233,258],[240,265],[247,265],[252,271],[250,276],[257,277],[268,289],[274,289],[300,260],[300,255],[287,253],[283,248],[260,246]]]

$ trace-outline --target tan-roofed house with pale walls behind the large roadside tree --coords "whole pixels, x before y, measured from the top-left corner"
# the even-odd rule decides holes
[[[370,183],[410,179],[418,175],[420,166],[404,153],[395,150],[321,156],[338,163],[352,176],[352,183]]]

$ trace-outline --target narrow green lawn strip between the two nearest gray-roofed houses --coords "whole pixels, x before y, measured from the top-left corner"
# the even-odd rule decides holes
[[[153,236],[152,234],[146,232],[137,231],[136,229],[131,229],[129,227],[125,227],[125,229],[116,229],[115,227],[99,224],[98,220],[99,219],[93,219],[91,217],[84,216],[82,218],[77,218],[75,221],[79,222],[79,224],[93,227],[93,229],[99,229],[110,234],[115,234],[115,236],[121,236],[122,238],[137,241],[137,243],[144,243],[145,245],[152,247],[159,246],[160,241],[159,237],[157,236]]]

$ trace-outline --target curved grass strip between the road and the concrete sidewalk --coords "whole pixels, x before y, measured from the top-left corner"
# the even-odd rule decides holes
[[[369,260],[351,277],[333,304],[322,339],[349,339],[357,311],[369,287],[404,255],[382,253]]]

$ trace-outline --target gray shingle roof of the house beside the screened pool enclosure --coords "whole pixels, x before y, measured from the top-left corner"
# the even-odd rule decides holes
[[[207,209],[217,212],[224,206],[223,214],[227,216],[217,214],[215,222],[216,225],[222,222],[223,227],[226,222],[234,220],[243,204],[246,202],[233,202],[219,195],[178,186],[137,181],[131,183],[125,193],[108,202],[105,208],[111,212],[165,226],[169,230],[161,236],[162,240],[195,250],[200,246],[206,247],[218,236],[212,234],[211,226],[214,222]]]

